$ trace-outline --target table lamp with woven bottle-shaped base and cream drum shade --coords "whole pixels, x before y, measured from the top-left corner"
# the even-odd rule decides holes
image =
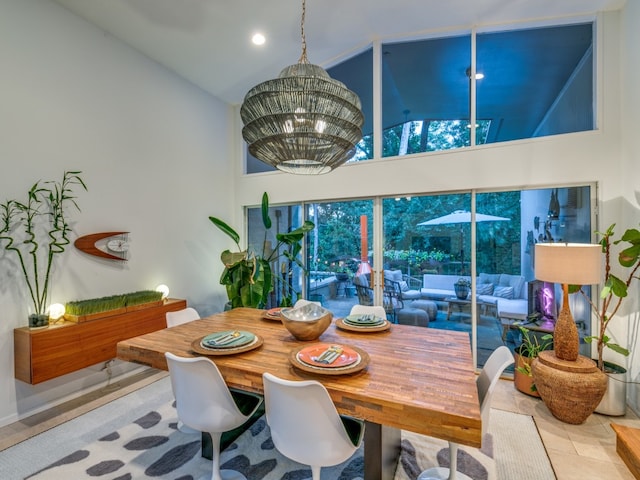
[[[569,308],[569,285],[594,285],[602,276],[602,247],[588,243],[538,243],[535,277],[562,284],[562,309],[553,330],[554,352],[562,360],[576,360],[580,338]]]

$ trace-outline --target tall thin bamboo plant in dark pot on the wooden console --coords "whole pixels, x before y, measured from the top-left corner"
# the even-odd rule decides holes
[[[7,200],[0,204],[0,243],[18,259],[33,306],[31,328],[49,324],[46,310],[51,270],[56,256],[70,243],[67,210],[71,206],[79,210],[74,188],[87,189],[81,173],[64,172],[61,182],[38,181],[25,202]]]

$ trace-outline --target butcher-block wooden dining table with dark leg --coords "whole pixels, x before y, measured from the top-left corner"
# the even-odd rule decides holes
[[[262,374],[315,379],[338,411],[365,420],[364,478],[392,479],[400,432],[408,430],[463,445],[481,443],[480,403],[468,333],[392,324],[387,331],[351,332],[335,319],[316,340],[366,352],[363,370],[344,375],[312,373],[294,366],[291,352],[313,342],[296,340],[265,310],[236,308],[118,343],[121,360],[167,370],[165,352],[193,357],[194,340],[223,330],[244,330],[262,344],[233,355],[209,356],[229,387],[263,393]]]

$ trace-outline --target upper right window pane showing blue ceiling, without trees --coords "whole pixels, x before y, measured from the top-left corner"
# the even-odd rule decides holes
[[[487,142],[594,128],[593,24],[477,36],[478,118]]]

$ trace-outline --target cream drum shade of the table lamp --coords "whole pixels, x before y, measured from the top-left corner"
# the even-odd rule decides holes
[[[595,285],[602,278],[602,246],[590,243],[537,243],[535,277],[543,282]]]

